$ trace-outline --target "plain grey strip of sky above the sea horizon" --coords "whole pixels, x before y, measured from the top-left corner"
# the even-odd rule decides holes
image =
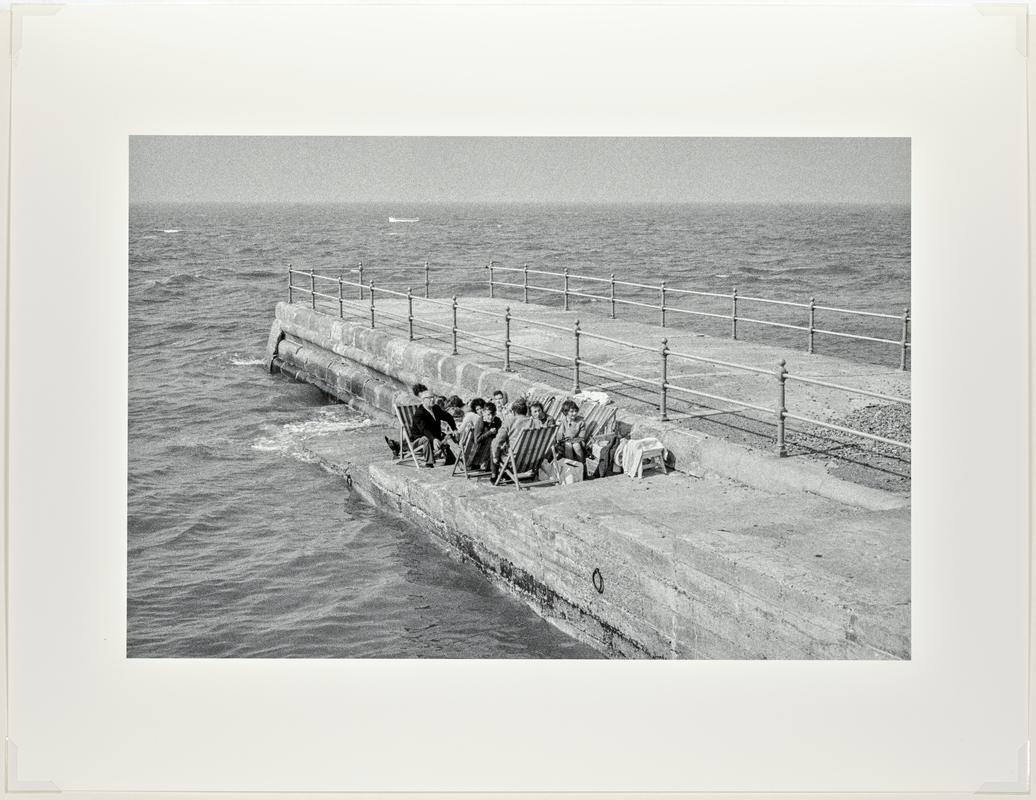
[[[909,139],[130,139],[130,200],[910,202]]]

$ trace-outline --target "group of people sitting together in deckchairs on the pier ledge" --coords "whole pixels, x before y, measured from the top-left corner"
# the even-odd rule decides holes
[[[483,450],[480,446],[486,441],[491,444],[486,460],[469,466],[490,473],[495,480],[509,444],[526,428],[544,427],[557,428],[553,457],[580,462],[586,460],[586,424],[579,416],[579,406],[574,400],[566,400],[562,404],[562,417],[554,421],[547,416],[542,402],[519,397],[509,403],[507,393],[499,389],[493,392],[491,400],[477,397],[466,405],[457,395],[436,395],[424,383],[414,383],[411,391],[421,400],[421,407],[413,413],[410,440],[416,452],[424,452],[424,465],[427,467],[435,466],[437,458],[441,458],[445,465],[455,463],[457,456],[451,442],[459,447],[463,435],[471,431],[471,452]],[[398,456],[399,442],[385,438]]]

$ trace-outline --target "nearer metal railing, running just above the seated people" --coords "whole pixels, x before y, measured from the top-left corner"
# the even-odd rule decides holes
[[[295,283],[295,276],[303,276],[306,279],[306,285],[299,286]],[[328,293],[324,291],[317,291],[317,281],[322,282],[322,284],[330,284],[332,288],[335,289],[334,293]],[[358,299],[353,299],[352,297],[346,297],[346,287],[350,288],[349,294],[351,294],[351,289],[356,288],[363,292],[364,289],[367,290],[366,295],[359,294]],[[322,287],[321,287],[322,288]],[[374,328],[377,325],[378,315],[382,317],[387,317],[390,319],[400,320],[406,323],[407,336],[410,341],[414,338],[413,323],[414,323],[414,303],[425,304],[426,306],[438,307],[440,309],[447,309],[451,314],[451,323],[444,324],[437,322],[428,318],[421,318],[419,321],[423,325],[428,325],[433,328],[450,332],[453,344],[453,354],[458,354],[458,335],[463,335],[470,338],[471,340],[479,341],[482,343],[488,343],[492,346],[500,345],[502,350],[502,368],[511,372],[512,370],[512,350],[519,349],[526,352],[536,353],[541,356],[548,359],[556,359],[564,363],[571,363],[572,365],[572,391],[573,393],[578,393],[582,388],[581,380],[581,370],[584,367],[591,367],[600,372],[615,375],[622,377],[625,380],[634,381],[635,383],[640,383],[652,388],[658,392],[658,408],[659,408],[659,419],[663,422],[669,420],[668,417],[668,405],[669,405],[669,393],[678,392],[685,395],[689,395],[693,398],[702,398],[713,402],[727,403],[731,406],[738,408],[745,408],[753,411],[760,412],[773,419],[777,427],[776,436],[776,447],[777,453],[780,456],[787,455],[787,446],[785,440],[785,424],[787,420],[794,420],[796,422],[805,423],[807,425],[814,425],[821,428],[826,428],[829,430],[839,431],[841,433],[846,433],[853,436],[859,436],[872,441],[882,442],[885,445],[891,445],[898,448],[903,448],[905,450],[911,449],[910,442],[899,441],[897,439],[887,438],[885,436],[879,436],[867,431],[861,431],[855,428],[848,428],[841,425],[835,425],[833,423],[826,422],[824,420],[817,420],[810,417],[805,417],[799,413],[793,413],[787,409],[786,406],[786,387],[788,381],[800,382],[815,387],[821,387],[824,389],[829,389],[832,391],[850,393],[856,395],[862,395],[866,397],[872,397],[879,400],[883,400],[888,403],[896,403],[901,405],[911,405],[909,398],[896,397],[893,395],[885,395],[877,392],[871,392],[868,390],[857,389],[855,387],[847,387],[839,383],[832,383],[825,380],[817,380],[815,378],[807,378],[801,375],[790,374],[786,368],[785,360],[781,359],[778,363],[776,369],[764,369],[760,367],[754,367],[747,364],[737,364],[733,362],[725,362],[717,359],[708,359],[701,355],[694,355],[692,353],[678,352],[670,350],[668,346],[668,340],[662,339],[660,347],[651,347],[643,344],[637,344],[634,342],[627,342],[621,339],[614,339],[612,337],[604,336],[601,334],[595,334],[589,331],[584,331],[579,324],[579,320],[576,320],[571,327],[566,325],[558,325],[550,322],[542,322],[540,320],[529,319],[527,317],[516,316],[511,313],[511,307],[508,306],[505,309],[503,314],[498,312],[486,311],[485,309],[477,309],[469,306],[461,306],[457,303],[457,295],[453,295],[450,301],[439,301],[432,299],[431,297],[421,296],[413,293],[412,287],[407,287],[405,292],[396,291],[393,289],[385,289],[380,286],[375,286],[374,281],[369,281],[366,286],[359,281],[346,280],[344,276],[324,276],[317,275],[314,270],[298,270],[294,269],[290,264],[288,265],[288,302],[295,303],[295,294],[300,293],[308,297],[309,305],[311,308],[316,310],[318,298],[321,301],[326,301],[332,304],[333,308],[337,308],[338,315],[340,318],[345,318],[345,309],[356,310],[363,315],[365,321],[369,320],[370,327]],[[386,311],[383,308],[378,309],[376,297],[379,295],[387,295],[392,297],[398,297],[406,301],[406,314],[400,314],[393,311]],[[364,299],[367,302],[364,303]],[[496,319],[501,323],[501,330],[498,337],[487,336],[485,333],[469,331],[459,326],[458,324],[458,312],[464,312],[467,314],[480,315],[483,317],[489,317]],[[535,327],[540,327],[544,330],[550,330],[554,332],[559,332],[563,334],[572,335],[572,349],[568,353],[555,352],[552,350],[545,350],[539,347],[533,347],[530,345],[518,344],[511,339],[511,324],[512,322],[521,322],[524,324],[533,325]],[[622,372],[612,367],[595,364],[582,358],[580,352],[580,339],[587,338],[597,341],[609,342],[612,344],[617,344],[623,347],[631,348],[640,352],[654,353],[659,358],[659,373],[657,376],[644,376],[644,375],[633,375],[630,373]],[[709,364],[712,366],[725,367],[727,369],[732,369],[745,373],[757,374],[768,376],[774,379],[775,385],[775,396],[773,405],[760,405],[758,403],[750,403],[745,400],[741,400],[732,397],[724,397],[721,395],[715,395],[707,392],[701,392],[699,390],[691,389],[689,387],[682,387],[672,383],[669,380],[669,360],[678,359],[684,361],[691,361],[699,364]]]

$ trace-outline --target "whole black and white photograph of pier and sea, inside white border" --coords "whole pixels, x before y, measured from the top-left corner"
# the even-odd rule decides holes
[[[131,659],[911,659],[909,138],[128,162]]]

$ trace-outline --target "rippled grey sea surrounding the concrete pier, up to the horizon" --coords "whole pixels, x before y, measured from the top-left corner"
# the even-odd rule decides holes
[[[521,283],[508,270],[527,265],[702,292],[737,287],[744,297],[888,314],[896,319],[816,312],[816,324],[893,341],[910,305],[906,205],[131,203],[128,223],[133,658],[597,655],[427,532],[353,498],[308,454],[311,437],[348,437],[371,421],[267,371],[288,264],[346,280],[363,264],[365,282],[423,293],[427,263],[431,296],[487,294],[490,261],[502,282]],[[571,287],[607,294],[600,283]],[[513,287],[496,292],[521,299]],[[620,285],[616,295],[656,303],[658,292]],[[558,297],[534,290],[530,301]],[[730,304],[670,302],[723,314]],[[573,304],[607,313],[600,298]],[[637,313],[654,312],[618,307]],[[805,312],[742,301],[739,313],[801,324]],[[669,320],[728,335],[728,320]],[[805,347],[790,328],[742,322],[739,336]],[[817,337],[816,349],[899,360],[897,346],[852,339]]]

